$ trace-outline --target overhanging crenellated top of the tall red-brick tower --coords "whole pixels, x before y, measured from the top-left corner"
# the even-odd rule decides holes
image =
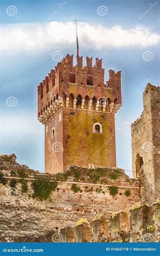
[[[38,86],[38,120],[45,124],[60,108],[116,113],[122,106],[121,71],[109,70],[109,80],[104,84],[102,59],[67,54],[57,63]]]

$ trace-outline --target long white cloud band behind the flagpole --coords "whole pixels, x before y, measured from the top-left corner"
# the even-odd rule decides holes
[[[81,47],[102,49],[106,47],[132,47],[157,45],[159,35],[148,28],[125,29],[101,25],[78,23],[78,39]],[[2,50],[45,50],[60,45],[75,45],[75,24],[73,22],[50,22],[45,24],[4,24],[1,25]],[[57,49],[58,50],[58,49]]]

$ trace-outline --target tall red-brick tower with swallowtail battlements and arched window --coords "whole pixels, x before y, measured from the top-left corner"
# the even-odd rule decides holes
[[[116,166],[114,114],[122,106],[121,71],[109,70],[104,84],[102,59],[67,54],[38,86],[38,120],[45,125],[45,171],[70,165]]]

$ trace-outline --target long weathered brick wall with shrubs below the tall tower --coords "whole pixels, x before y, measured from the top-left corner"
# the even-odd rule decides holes
[[[112,212],[128,211],[140,201],[139,180],[129,179],[124,170],[118,168],[71,166],[63,173],[44,174],[18,164],[13,154],[0,156],[0,169],[1,241],[49,241],[53,231],[75,227],[80,218],[91,222],[97,214],[103,214],[108,219]],[[24,171],[27,193],[22,193]],[[58,182],[44,201],[32,197],[32,182],[39,176]],[[11,187],[13,180],[17,181],[16,187]]]

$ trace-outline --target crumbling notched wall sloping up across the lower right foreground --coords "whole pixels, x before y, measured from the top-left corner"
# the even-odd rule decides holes
[[[73,228],[57,233],[61,242],[160,242],[160,200],[153,205],[136,204],[130,211],[97,214],[89,222],[81,218]],[[54,241],[54,237],[53,237]]]

